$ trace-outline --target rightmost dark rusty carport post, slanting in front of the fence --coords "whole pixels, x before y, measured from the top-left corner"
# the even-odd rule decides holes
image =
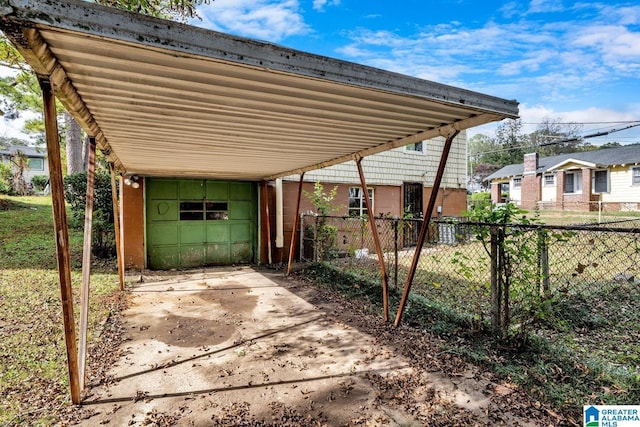
[[[416,269],[418,268],[418,262],[420,261],[420,253],[422,252],[422,245],[424,245],[424,239],[427,235],[427,230],[429,229],[431,214],[433,213],[433,208],[436,205],[436,198],[438,197],[438,189],[440,188],[440,183],[442,182],[442,177],[444,176],[444,168],[447,165],[447,159],[449,158],[449,151],[451,151],[451,145],[453,145],[453,140],[458,135],[458,133],[459,131],[455,131],[453,132],[453,134],[449,135],[444,143],[444,147],[442,148],[442,155],[440,156],[440,164],[438,165],[438,170],[433,180],[433,187],[431,189],[431,194],[429,196],[429,203],[427,204],[427,209],[424,211],[424,219],[422,222],[422,227],[420,227],[420,234],[418,234],[418,241],[416,242],[416,251],[413,254],[413,261],[411,262],[411,267],[409,268],[409,273],[407,274],[407,280],[404,284],[404,290],[402,291],[402,298],[400,299],[398,314],[396,315],[396,320],[394,322],[395,326],[400,325],[400,321],[402,320],[402,314],[404,313],[404,309],[407,304],[407,299],[409,298],[409,291],[411,290],[411,285],[413,284],[413,278],[416,275]]]

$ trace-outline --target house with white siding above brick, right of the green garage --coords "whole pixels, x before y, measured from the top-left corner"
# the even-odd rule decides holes
[[[443,144],[444,138],[435,138],[375,154],[362,161],[376,216],[402,216],[405,213],[423,216],[423,201],[426,204],[431,194]],[[461,132],[449,153],[436,213],[458,216],[466,209],[466,144],[466,133]],[[298,180],[299,176],[287,177],[285,186],[295,193],[293,187]],[[335,203],[343,209],[337,215],[366,213],[355,162],[307,172],[304,181],[307,191],[313,189],[315,182],[322,183],[326,191],[338,187]],[[295,203],[295,198],[285,200],[286,204]],[[302,200],[301,210],[313,210],[309,200]]]

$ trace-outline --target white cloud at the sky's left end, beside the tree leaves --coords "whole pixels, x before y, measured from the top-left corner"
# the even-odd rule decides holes
[[[194,25],[271,42],[310,31],[297,0],[216,0],[198,12]]]

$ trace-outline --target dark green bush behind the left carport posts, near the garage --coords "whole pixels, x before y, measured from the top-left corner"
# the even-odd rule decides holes
[[[71,206],[70,225],[82,227],[87,204],[86,172],[77,172],[64,178],[64,197]],[[93,197],[93,254],[99,258],[109,258],[115,254],[115,232],[111,177],[107,172],[96,172]]]

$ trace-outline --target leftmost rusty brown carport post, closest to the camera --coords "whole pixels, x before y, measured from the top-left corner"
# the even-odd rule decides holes
[[[56,100],[51,89],[51,82],[38,78],[42,89],[44,108],[44,126],[47,142],[47,159],[49,162],[49,183],[53,207],[53,229],[56,241],[56,258],[60,279],[60,298],[62,302],[62,320],[64,324],[64,340],[67,347],[67,366],[69,369],[69,386],[71,401],[80,403],[80,383],[78,376],[78,350],[73,317],[73,289],[71,287],[71,255],[69,252],[69,228],[64,203],[64,186],[62,183],[62,163],[60,160],[60,136],[56,112]]]

